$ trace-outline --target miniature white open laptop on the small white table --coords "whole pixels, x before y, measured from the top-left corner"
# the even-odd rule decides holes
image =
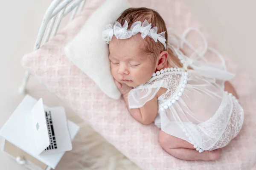
[[[35,154],[72,150],[63,107],[44,108],[39,99],[31,110]]]

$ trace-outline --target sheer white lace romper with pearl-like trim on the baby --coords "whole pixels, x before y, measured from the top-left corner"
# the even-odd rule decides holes
[[[165,68],[128,94],[130,108],[141,108],[160,88],[155,125],[194,145],[200,153],[226,146],[241,130],[244,112],[238,100],[224,91],[227,72],[210,67]],[[187,71],[186,71],[187,70]],[[202,73],[204,72],[204,73]],[[226,75],[228,77],[228,73]],[[218,83],[222,79],[222,84]]]

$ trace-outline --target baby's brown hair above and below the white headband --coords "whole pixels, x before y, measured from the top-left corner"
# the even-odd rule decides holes
[[[123,25],[125,23],[125,20],[127,20],[128,22],[128,29],[130,29],[131,25],[136,21],[140,21],[141,23],[143,23],[144,20],[147,20],[148,23],[151,23],[151,28],[157,26],[158,28],[157,33],[166,31],[165,39],[167,44],[168,35],[167,35],[166,24],[163,18],[160,16],[160,14],[154,9],[144,8],[144,7],[128,8],[122,12],[120,17],[116,21],[119,22],[121,25]],[[144,50],[147,54],[153,57],[154,61],[156,61],[157,56],[160,54],[160,52],[164,51],[164,46],[161,42],[159,41],[155,42],[152,38],[147,36],[145,37]]]

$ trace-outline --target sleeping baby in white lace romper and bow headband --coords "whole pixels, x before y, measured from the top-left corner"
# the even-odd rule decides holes
[[[128,8],[106,26],[111,74],[131,116],[160,128],[160,146],[183,160],[216,160],[241,130],[243,108],[233,74],[167,48],[163,18]]]

